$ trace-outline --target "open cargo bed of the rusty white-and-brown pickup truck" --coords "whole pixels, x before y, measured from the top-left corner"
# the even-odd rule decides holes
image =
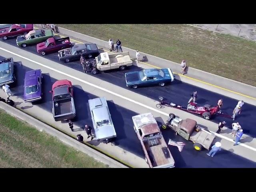
[[[148,152],[148,156],[150,157],[151,163],[153,167],[163,166],[166,164],[172,164],[171,157],[169,151],[167,150],[167,156],[165,156],[163,148],[166,148],[165,142],[163,143],[163,138],[158,138],[158,144],[152,146],[150,141],[146,140],[144,142],[144,146]]]

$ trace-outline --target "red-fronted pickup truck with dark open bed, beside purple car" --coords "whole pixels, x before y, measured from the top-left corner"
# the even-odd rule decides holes
[[[52,115],[55,121],[67,121],[76,117],[72,82],[58,80],[52,84]]]

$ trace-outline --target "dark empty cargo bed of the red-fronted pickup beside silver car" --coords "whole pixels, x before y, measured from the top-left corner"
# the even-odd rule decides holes
[[[55,104],[58,103],[58,106]],[[54,116],[72,112],[71,98],[54,101]]]

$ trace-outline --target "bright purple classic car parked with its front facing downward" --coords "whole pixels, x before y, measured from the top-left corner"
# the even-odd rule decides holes
[[[24,101],[42,99],[42,72],[40,69],[27,71],[24,79]]]

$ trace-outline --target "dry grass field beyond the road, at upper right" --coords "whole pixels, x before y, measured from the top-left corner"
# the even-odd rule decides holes
[[[58,24],[89,36],[256,86],[256,42],[185,24]]]

